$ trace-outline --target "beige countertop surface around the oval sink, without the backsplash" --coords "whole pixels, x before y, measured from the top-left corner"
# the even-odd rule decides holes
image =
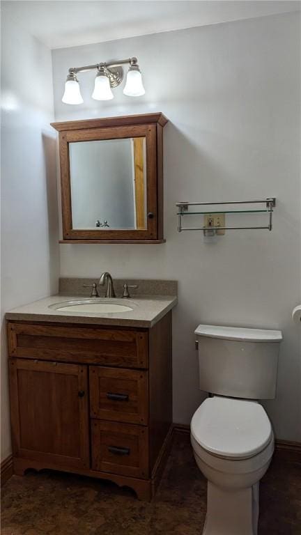
[[[176,295],[135,295],[130,299],[109,300],[132,307],[131,311],[115,313],[58,311],[49,306],[70,300],[82,300],[83,295],[52,295],[6,313],[7,320],[54,323],[78,323],[82,325],[118,325],[120,327],[153,327],[167,312],[176,307]],[[98,297],[95,297],[98,299]],[[104,299],[101,299],[102,302]]]

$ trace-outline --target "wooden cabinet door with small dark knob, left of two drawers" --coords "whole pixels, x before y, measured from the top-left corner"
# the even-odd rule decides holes
[[[14,456],[89,466],[87,367],[10,359]]]

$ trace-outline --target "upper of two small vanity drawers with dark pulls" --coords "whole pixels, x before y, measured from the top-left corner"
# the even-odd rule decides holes
[[[89,367],[92,418],[148,424],[147,371]]]

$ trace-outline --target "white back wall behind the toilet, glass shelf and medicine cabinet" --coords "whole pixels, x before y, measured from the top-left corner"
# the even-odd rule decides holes
[[[61,245],[61,275],[178,279],[173,313],[173,419],[201,402],[194,328],[199,323],[280,328],[277,399],[265,404],[277,437],[301,440],[300,20],[277,15],[52,52],[56,121],[162,111],[164,245]],[[61,102],[68,68],[137,55],[146,96]],[[277,197],[275,228],[229,231],[217,244],[177,233],[177,201]]]

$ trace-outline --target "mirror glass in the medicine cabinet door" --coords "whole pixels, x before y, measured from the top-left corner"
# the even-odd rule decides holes
[[[147,228],[146,139],[69,144],[72,228]]]

